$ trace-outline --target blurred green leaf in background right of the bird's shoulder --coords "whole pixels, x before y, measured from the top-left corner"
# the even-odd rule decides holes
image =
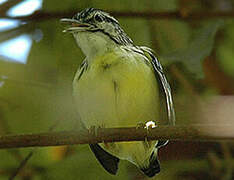
[[[197,78],[202,78],[202,61],[211,53],[215,34],[223,24],[222,20],[206,22],[195,30],[187,47],[162,55],[161,58],[170,63],[182,62]]]

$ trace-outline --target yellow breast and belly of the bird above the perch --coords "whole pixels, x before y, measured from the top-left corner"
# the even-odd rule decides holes
[[[125,51],[97,56],[80,68],[74,97],[87,127],[124,127],[158,118],[158,86],[142,55]]]

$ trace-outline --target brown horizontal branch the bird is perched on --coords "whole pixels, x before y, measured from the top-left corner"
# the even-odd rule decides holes
[[[211,126],[160,126],[145,128],[98,128],[88,131],[63,131],[39,134],[21,134],[0,136],[0,149],[20,147],[42,147],[100,142],[177,140],[177,141],[218,141],[234,140],[232,125]]]

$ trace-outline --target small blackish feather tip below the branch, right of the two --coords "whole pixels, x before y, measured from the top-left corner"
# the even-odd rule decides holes
[[[150,156],[149,166],[141,168],[141,171],[148,177],[153,177],[160,172],[160,164],[154,152]]]

